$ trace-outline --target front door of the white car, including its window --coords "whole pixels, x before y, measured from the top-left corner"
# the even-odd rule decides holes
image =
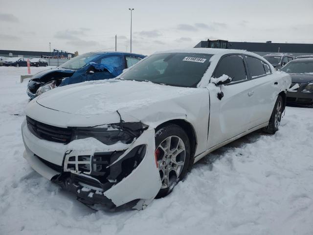
[[[251,122],[254,82],[247,76],[243,55],[222,57],[212,77],[218,78],[223,74],[231,77],[232,82],[222,86],[210,84],[208,148],[244,133]],[[224,94],[221,100],[217,97],[220,91]]]

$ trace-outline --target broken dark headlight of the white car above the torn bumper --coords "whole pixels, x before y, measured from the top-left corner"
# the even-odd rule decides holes
[[[123,128],[120,127],[120,124],[112,124],[106,128],[77,127],[73,130],[72,141],[93,137],[106,145],[112,145],[118,141],[129,144],[134,141],[134,138],[139,137],[144,129],[142,123],[139,123],[141,125],[138,126],[141,128],[137,130],[128,129],[127,122],[123,123]]]

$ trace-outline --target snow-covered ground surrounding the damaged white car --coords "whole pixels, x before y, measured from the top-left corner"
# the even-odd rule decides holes
[[[0,235],[313,234],[313,109],[287,107],[274,136],[215,151],[143,211],[93,211],[22,158],[26,73],[0,67]]]

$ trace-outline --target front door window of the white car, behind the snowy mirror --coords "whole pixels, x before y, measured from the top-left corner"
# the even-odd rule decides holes
[[[241,55],[229,55],[223,57],[218,64],[213,77],[219,78],[223,74],[232,78],[232,82],[247,79],[243,57]]]

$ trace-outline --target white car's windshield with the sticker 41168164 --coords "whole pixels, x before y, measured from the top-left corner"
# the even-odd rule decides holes
[[[151,55],[123,74],[125,80],[151,81],[177,87],[196,87],[210,65],[210,54]]]

